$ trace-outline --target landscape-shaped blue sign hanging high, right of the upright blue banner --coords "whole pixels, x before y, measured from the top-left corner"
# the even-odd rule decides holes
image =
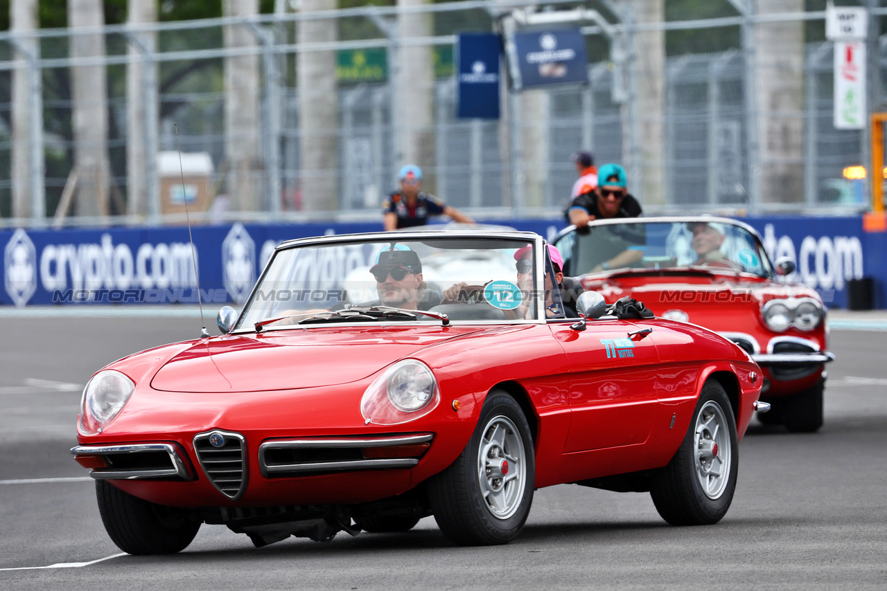
[[[517,64],[511,70],[514,89],[588,82],[585,37],[579,29],[515,34],[514,54],[508,58]]]

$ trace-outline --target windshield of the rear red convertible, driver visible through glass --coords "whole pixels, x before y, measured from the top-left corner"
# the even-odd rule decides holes
[[[564,275],[619,269],[704,268],[773,277],[763,245],[749,230],[725,222],[624,222],[590,225],[556,243]]]

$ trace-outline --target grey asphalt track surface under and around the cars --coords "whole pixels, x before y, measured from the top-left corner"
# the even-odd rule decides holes
[[[648,494],[562,485],[537,491],[507,546],[454,547],[428,517],[410,533],[265,548],[204,525],[180,554],[121,555],[68,454],[82,385],[107,362],[199,328],[183,318],[0,315],[0,589],[887,587],[881,330],[832,330],[819,433],[753,424],[718,525],[672,527]]]

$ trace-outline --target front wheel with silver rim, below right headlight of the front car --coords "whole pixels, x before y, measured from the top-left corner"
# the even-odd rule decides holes
[[[488,439],[491,436],[504,438],[501,446]],[[487,448],[483,457],[482,444]],[[506,455],[513,458],[510,465]],[[479,473],[482,460],[488,466],[483,485]],[[475,432],[461,455],[428,482],[428,500],[443,535],[459,546],[491,546],[514,540],[530,515],[535,460],[530,424],[521,407],[508,394],[493,390],[483,402]],[[496,466],[490,468],[491,464]],[[506,480],[508,473],[514,476]],[[498,489],[490,492],[497,482]],[[504,506],[491,507],[497,501]]]

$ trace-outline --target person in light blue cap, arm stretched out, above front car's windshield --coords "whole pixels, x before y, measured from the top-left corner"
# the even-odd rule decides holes
[[[443,203],[430,193],[421,191],[422,169],[407,164],[397,174],[400,191],[395,191],[382,203],[382,223],[385,229],[412,228],[428,223],[429,215],[449,215],[455,222],[475,222],[455,207]]]

